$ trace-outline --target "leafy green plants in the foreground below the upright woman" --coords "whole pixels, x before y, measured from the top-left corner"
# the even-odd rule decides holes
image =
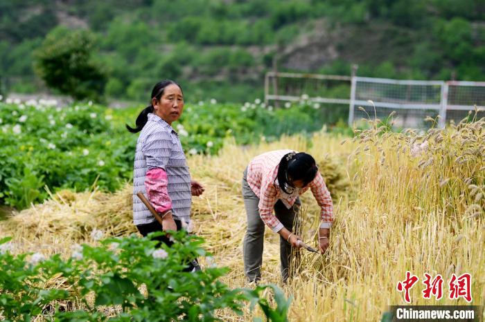
[[[3,238],[0,312],[6,319],[21,316],[24,321],[41,314],[55,321],[215,321],[215,310],[229,308],[241,314],[245,302],[251,301],[253,306],[261,305],[270,321],[288,321],[289,301],[277,287],[231,290],[218,281],[227,268],[185,272],[191,259],[209,255],[201,247],[202,238],[173,232],[172,247],[164,244],[157,249],[158,242],[151,238],[163,234],[107,238],[100,246],[74,245],[69,258],[59,254],[44,258],[38,253],[14,256],[9,251],[11,238]],[[63,283],[44,288],[45,281],[58,278]],[[275,292],[276,309],[261,297],[267,287]],[[94,303],[87,300],[88,294]],[[59,301],[82,305],[64,312],[55,305]]]

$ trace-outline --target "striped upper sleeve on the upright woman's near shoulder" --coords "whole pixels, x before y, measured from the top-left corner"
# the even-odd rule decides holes
[[[165,169],[172,152],[172,138],[167,131],[155,131],[147,135],[141,147],[148,169]]]

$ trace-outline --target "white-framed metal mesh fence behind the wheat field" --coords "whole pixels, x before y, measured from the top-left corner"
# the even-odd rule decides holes
[[[362,118],[385,120],[391,112],[394,126],[426,128],[425,117],[446,122],[459,122],[485,106],[485,82],[422,81],[384,79],[360,76],[274,73],[265,77],[265,102],[309,102],[348,106],[349,126]],[[359,108],[360,107],[360,108]],[[485,116],[484,112],[479,112]]]

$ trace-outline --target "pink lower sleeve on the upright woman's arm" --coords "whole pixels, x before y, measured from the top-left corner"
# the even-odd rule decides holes
[[[168,179],[164,169],[150,169],[146,173],[145,189],[148,200],[158,212],[172,209],[172,200],[168,196]]]

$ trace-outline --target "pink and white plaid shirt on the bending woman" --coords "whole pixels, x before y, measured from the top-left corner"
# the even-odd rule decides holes
[[[278,232],[283,228],[283,224],[274,216],[274,205],[278,200],[290,209],[295,200],[311,189],[315,200],[321,207],[321,228],[332,227],[333,222],[333,203],[330,197],[324,178],[317,172],[317,176],[306,187],[299,190],[299,193],[294,195],[285,195],[281,193],[281,189],[277,181],[279,162],[283,155],[292,152],[292,150],[276,150],[263,153],[254,158],[247,166],[247,183],[252,191],[259,198],[259,215],[265,224],[274,232]]]

